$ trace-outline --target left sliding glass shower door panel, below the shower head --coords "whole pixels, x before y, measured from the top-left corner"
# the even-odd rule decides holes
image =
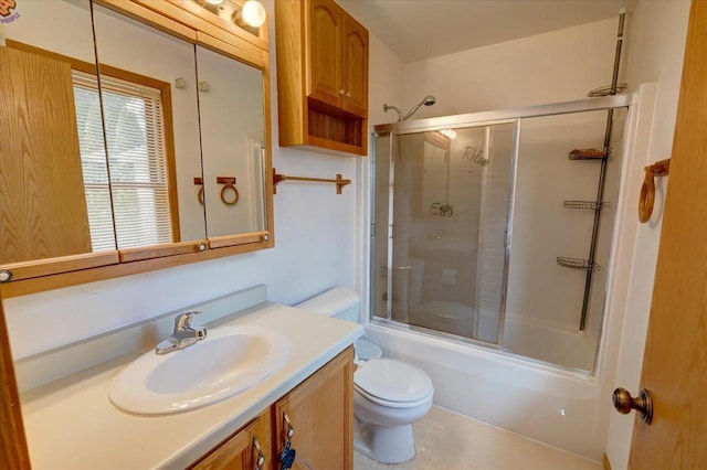
[[[514,122],[376,139],[374,317],[497,343]]]

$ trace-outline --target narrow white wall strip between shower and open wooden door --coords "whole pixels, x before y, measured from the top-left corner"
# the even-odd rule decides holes
[[[657,96],[652,119],[650,141],[643,145],[645,163],[671,154],[679,79],[689,13],[688,1],[641,1],[627,22],[626,79],[633,89],[637,84],[657,82]],[[636,200],[643,174],[631,175],[629,199]],[[656,202],[650,223],[635,228],[635,249],[632,254],[632,276],[627,291],[614,381],[605,393],[622,386],[637,394],[643,364],[643,351],[651,308],[651,292],[661,236],[663,196],[666,179],[656,181]],[[634,214],[635,216],[635,214]],[[629,462],[634,414],[612,413],[606,438],[606,456],[613,469],[625,469]]]

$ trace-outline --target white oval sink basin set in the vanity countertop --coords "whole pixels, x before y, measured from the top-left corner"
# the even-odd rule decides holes
[[[201,408],[257,385],[285,364],[289,350],[286,337],[265,328],[214,328],[183,350],[136,359],[113,380],[108,397],[139,415]]]

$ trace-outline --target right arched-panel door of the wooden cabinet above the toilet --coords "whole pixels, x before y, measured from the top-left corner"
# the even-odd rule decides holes
[[[342,108],[368,116],[368,31],[344,13],[344,100]]]

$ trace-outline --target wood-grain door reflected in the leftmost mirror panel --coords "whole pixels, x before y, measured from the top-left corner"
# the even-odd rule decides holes
[[[91,253],[71,64],[0,47],[0,263]]]

